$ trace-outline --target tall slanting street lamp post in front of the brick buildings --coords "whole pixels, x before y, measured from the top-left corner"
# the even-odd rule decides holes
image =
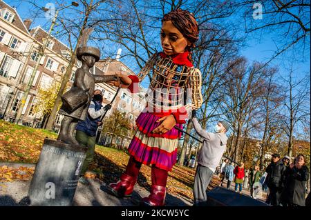
[[[77,7],[77,6],[79,6],[79,3],[75,2],[75,1],[72,1],[70,5],[65,6],[65,7],[63,7],[63,8],[58,8],[58,9],[56,10],[56,12],[55,12],[53,21],[52,21],[52,23],[51,23],[51,25],[50,25],[50,30],[48,30],[48,37],[47,37],[47,39],[46,39],[45,41],[43,41],[43,46],[41,47],[41,51],[39,51],[38,61],[37,61],[37,63],[36,63],[35,68],[33,68],[33,70],[32,70],[32,74],[31,74],[31,77],[30,77],[30,79],[29,79],[29,81],[28,81],[28,85],[27,85],[27,87],[26,87],[25,92],[23,93],[23,97],[21,98],[21,106],[19,106],[19,110],[18,110],[17,115],[16,115],[16,121],[17,121],[17,123],[18,123],[18,121],[19,121],[19,119],[20,119],[20,117],[21,117],[21,110],[22,110],[23,107],[25,106],[26,99],[27,99],[27,97],[28,97],[30,88],[31,88],[31,86],[32,86],[32,82],[33,82],[33,80],[35,79],[35,75],[36,75],[36,73],[37,73],[37,69],[38,69],[38,67],[39,67],[40,60],[41,60],[41,58],[42,58],[43,55],[44,55],[44,50],[46,50],[46,46],[47,46],[47,44],[48,44],[48,39],[50,38],[50,34],[51,34],[51,32],[52,32],[52,30],[53,30],[53,28],[54,28],[54,26],[55,26],[56,18],[57,18],[58,12],[59,12],[60,10],[63,10],[63,9],[65,9],[65,8],[68,8],[68,7],[70,7],[70,6],[75,6],[75,7]],[[49,9],[48,9],[48,8],[45,8],[45,7],[42,7],[42,10],[44,10],[44,11],[46,12],[46,11],[48,11]]]

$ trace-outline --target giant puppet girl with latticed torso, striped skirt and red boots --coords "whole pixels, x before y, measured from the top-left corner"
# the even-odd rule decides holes
[[[149,73],[152,76],[147,106],[136,119],[138,131],[129,145],[129,163],[120,181],[109,185],[115,196],[131,197],[140,166],[151,165],[151,192],[142,199],[149,206],[164,206],[167,175],[176,163],[181,137],[174,126],[182,128],[188,110],[202,104],[201,74],[191,59],[191,49],[198,40],[196,19],[187,10],[169,12],[162,19],[160,37],[163,52],[153,54],[138,77],[121,76],[122,85],[111,83],[138,92],[139,81]],[[189,104],[185,103],[186,90],[191,93]]]

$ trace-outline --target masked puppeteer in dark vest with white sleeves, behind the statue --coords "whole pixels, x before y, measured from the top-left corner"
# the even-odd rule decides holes
[[[86,158],[81,168],[79,182],[88,185],[88,181],[84,178],[84,174],[88,169],[88,165],[93,161],[95,150],[95,139],[97,128],[102,125],[100,118],[111,108],[111,105],[106,105],[102,108],[102,91],[95,90],[93,99],[88,107],[88,115],[85,121],[79,121],[76,128],[75,139],[80,145],[88,148]]]

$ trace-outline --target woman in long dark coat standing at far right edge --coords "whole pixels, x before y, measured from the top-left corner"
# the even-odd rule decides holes
[[[305,206],[305,183],[308,179],[309,170],[305,166],[305,156],[299,154],[284,172],[285,183],[281,194],[283,206]]]

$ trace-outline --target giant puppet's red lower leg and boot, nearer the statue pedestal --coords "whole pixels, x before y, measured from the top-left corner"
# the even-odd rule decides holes
[[[142,163],[136,161],[131,156],[120,180],[117,183],[109,184],[109,191],[117,197],[131,197],[141,166]]]

